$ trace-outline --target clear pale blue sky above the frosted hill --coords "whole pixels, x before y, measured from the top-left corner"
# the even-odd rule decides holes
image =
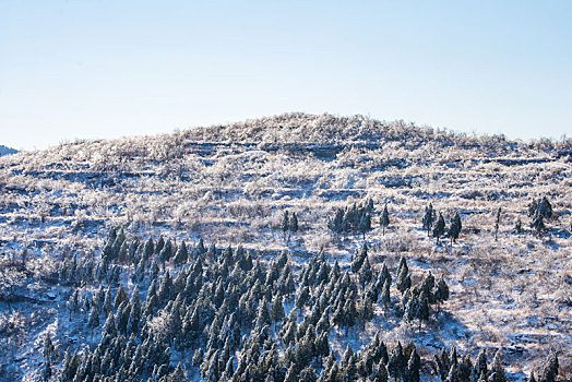
[[[570,1],[0,0],[0,144],[283,114],[572,135]]]

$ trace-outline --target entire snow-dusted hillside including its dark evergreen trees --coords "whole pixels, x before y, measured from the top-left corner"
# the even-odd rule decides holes
[[[2,156],[0,375],[570,379],[571,211],[570,140],[361,116]]]

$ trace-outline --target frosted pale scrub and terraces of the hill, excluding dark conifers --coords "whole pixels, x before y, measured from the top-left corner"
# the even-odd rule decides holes
[[[501,348],[511,378],[521,379],[555,349],[560,375],[570,377],[571,155],[570,141],[522,142],[361,116],[288,114],[2,156],[0,330],[7,334],[0,345],[9,351],[0,371],[36,375],[41,362],[34,346],[41,346],[48,329],[61,353],[75,346],[72,337],[94,341],[67,332],[61,314],[71,289],[55,279],[74,255],[99,259],[110,229],[122,227],[129,240],[142,242],[163,235],[192,246],[202,239],[221,250],[241,246],[265,264],[287,252],[295,272],[319,253],[349,270],[366,242],[376,272],[385,264],[395,278],[403,258],[414,283],[431,271],[446,280],[451,298],[421,333],[376,306],[351,346],[367,345],[368,333],[383,327],[383,341],[415,342],[426,375],[441,347],[455,346],[473,358],[478,349],[492,357]],[[528,207],[543,198],[553,214],[536,235]],[[332,232],[329,220],[337,208],[369,200],[372,229],[365,239]],[[448,227],[460,214],[456,242],[437,242],[424,230],[429,203]],[[390,224],[383,229],[385,205]],[[299,220],[289,240],[282,230],[286,211]],[[86,285],[82,293],[96,289]],[[401,298],[393,286],[392,296]],[[341,333],[331,337],[339,353],[347,343]]]

